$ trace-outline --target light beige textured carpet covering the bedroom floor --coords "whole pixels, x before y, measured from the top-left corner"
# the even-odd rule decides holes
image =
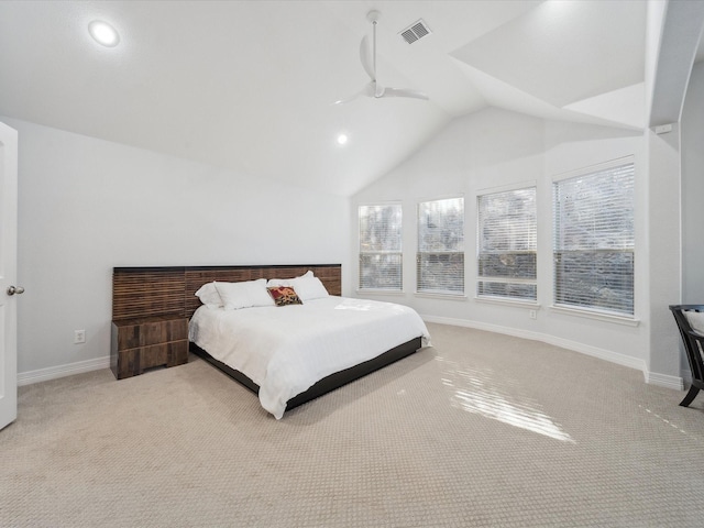
[[[704,395],[428,327],[433,348],[279,421],[195,358],[21,387],[0,526],[704,526]]]

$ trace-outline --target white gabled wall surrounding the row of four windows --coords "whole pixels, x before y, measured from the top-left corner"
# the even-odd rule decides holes
[[[400,200],[404,206],[404,294],[374,297],[400,301],[430,320],[474,326],[540,339],[646,371],[648,363],[648,287],[636,279],[637,327],[575,317],[551,309],[551,183],[552,177],[618,157],[636,163],[637,245],[647,241],[647,160],[641,132],[543,121],[499,109],[457,119],[433,141],[381,180],[354,197],[350,208],[353,232],[350,252],[358,254],[356,208],[360,204]],[[535,182],[538,187],[538,301],[530,307],[480,301],[476,276],[476,195],[483,189]],[[416,295],[416,204],[462,194],[465,197],[466,299],[448,300]],[[636,252],[637,273],[647,274],[646,252]],[[358,279],[358,272],[353,270]],[[356,282],[354,283],[356,284]],[[361,295],[361,294],[360,294]],[[364,293],[364,295],[369,295]]]

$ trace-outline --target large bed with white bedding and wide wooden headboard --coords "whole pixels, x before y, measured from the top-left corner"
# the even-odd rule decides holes
[[[229,309],[207,306],[195,295],[211,283],[286,288],[304,277],[315,277],[324,295],[310,298],[310,288],[298,283],[301,304],[239,307],[234,301]],[[413,309],[340,294],[339,264],[113,268],[113,319],[183,314],[190,320],[191,351],[257,394],[277,419],[429,344]],[[264,351],[263,358],[255,351]]]

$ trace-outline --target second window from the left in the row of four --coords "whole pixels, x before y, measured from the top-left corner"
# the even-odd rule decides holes
[[[464,198],[418,205],[419,293],[464,294]]]

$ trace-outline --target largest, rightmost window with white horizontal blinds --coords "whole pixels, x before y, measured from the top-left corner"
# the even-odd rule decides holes
[[[554,304],[634,315],[634,164],[553,183]]]

